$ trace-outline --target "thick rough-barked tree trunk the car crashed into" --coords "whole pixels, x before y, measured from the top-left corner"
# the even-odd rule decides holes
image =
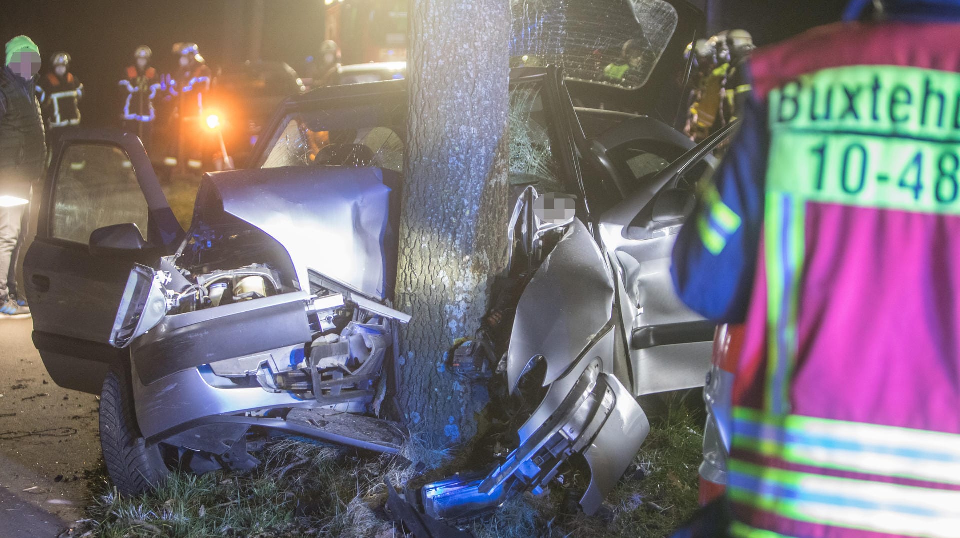
[[[485,387],[446,371],[455,339],[472,337],[506,267],[510,2],[412,0],[410,115],[398,308],[397,401],[434,446],[467,441]]]

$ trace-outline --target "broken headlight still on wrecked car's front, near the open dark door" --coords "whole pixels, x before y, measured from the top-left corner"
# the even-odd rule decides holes
[[[156,327],[167,314],[167,293],[161,275],[134,264],[127,279],[120,308],[110,331],[110,345],[127,347],[132,339]]]

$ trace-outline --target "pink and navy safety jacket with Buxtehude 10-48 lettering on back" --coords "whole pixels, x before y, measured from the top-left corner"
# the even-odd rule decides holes
[[[838,24],[752,59],[673,268],[746,321],[735,536],[960,537],[958,35]]]

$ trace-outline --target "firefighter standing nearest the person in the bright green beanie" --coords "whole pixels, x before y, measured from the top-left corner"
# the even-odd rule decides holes
[[[70,72],[70,55],[57,53],[50,57],[52,70],[41,77],[36,95],[43,110],[47,137],[53,139],[57,129],[80,125],[80,100],[84,84]]]

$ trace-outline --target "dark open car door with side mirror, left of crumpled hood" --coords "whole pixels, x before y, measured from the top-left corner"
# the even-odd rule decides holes
[[[125,355],[108,339],[133,263],[151,265],[183,238],[140,139],[77,129],[44,177],[24,280],[34,344],[60,386],[99,393]]]

